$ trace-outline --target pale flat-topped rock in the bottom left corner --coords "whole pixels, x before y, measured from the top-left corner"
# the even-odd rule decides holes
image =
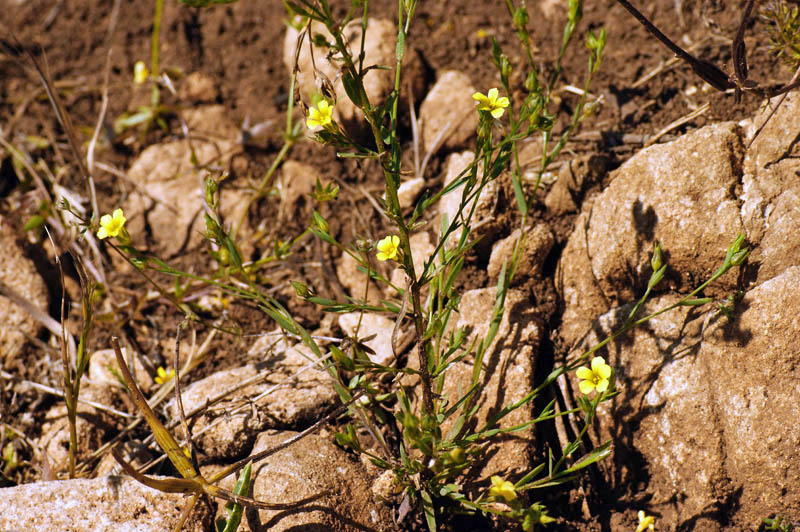
[[[0,530],[162,532],[175,529],[189,498],[129,477],[107,476],[0,488],[0,500]],[[182,530],[211,530],[212,518],[211,508],[200,499]]]

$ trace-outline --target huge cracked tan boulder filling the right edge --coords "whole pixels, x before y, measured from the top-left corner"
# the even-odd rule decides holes
[[[654,240],[670,267],[657,289],[671,294],[641,315],[708,278],[737,233],[753,249],[732,319],[713,305],[679,308],[600,352],[621,392],[594,425],[598,442],[614,441],[600,467],[613,489],[643,486],[648,513],[673,529],[754,529],[800,512],[800,97],[746,148],[770,111],[744,131],[708,126],[634,156],[584,204],[558,268],[559,332],[575,342],[588,331],[575,357],[623,323]],[[705,295],[736,281],[731,273]],[[576,384],[562,381],[573,395]]]

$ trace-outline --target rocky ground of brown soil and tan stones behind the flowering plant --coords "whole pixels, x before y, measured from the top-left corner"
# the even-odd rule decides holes
[[[422,175],[404,184],[408,205],[424,190],[446,186],[471,160],[465,151],[474,142],[477,123],[471,95],[498,84],[491,38],[512,60],[518,58],[507,14],[495,4],[420,5],[409,36],[408,92],[420,122],[420,157],[431,156]],[[642,4],[683,46],[721,66],[729,64],[739,2]],[[553,35],[560,34],[564,6],[544,0],[528,7],[536,10],[530,25],[537,60],[552,64],[559,41]],[[184,75],[174,95],[165,93],[165,103],[179,111],[183,124],[173,119],[168,131],[144,135],[115,134],[110,124],[149,101],[149,90],[135,86],[131,72],[134,62],[149,57],[152,5],[123,3],[110,37],[111,3],[5,0],[0,9],[7,13],[0,41],[16,47],[0,55],[0,320],[6,324],[0,329],[5,464],[0,530],[170,529],[184,497],[117,476],[118,466],[108,454],[108,444],[120,436],[135,463],[156,454],[146,429],[127,427],[135,408],[109,370],[109,340],[122,338],[136,361],[140,385],[145,393],[155,393],[154,368],[171,360],[182,314],[113,253],[104,253],[97,270],[89,272],[105,279],[107,288],[96,301],[89,339],[93,355],[81,389],[81,397],[93,401],[80,406],[82,478],[66,480],[66,408],[52,392],[63,386],[62,285],[64,323],[70,334],[80,334],[79,279],[66,253],[78,235],[53,224],[57,218],[47,205],[68,198],[88,206],[88,191],[21,51],[41,63],[46,59],[85,143],[100,115],[105,58],[112,50],[108,127],[94,156],[100,210],[123,207],[134,243],[186,271],[213,271],[202,236],[204,172],[228,172],[221,210],[230,223],[244,217],[241,234],[249,258],[308,226],[308,194],[317,178],[341,187],[326,213],[340,240],[379,239],[386,221],[373,205],[382,194],[382,177],[376,165],[337,159],[333,150],[302,141],[281,164],[270,194],[249,204],[254,184],[282,145],[294,39],[283,24],[280,2],[240,0],[208,11],[167,3],[161,62]],[[394,45],[386,44],[396,6],[384,0],[370,3],[370,9],[374,40],[367,40],[368,57],[391,63]],[[599,107],[539,193],[520,272],[487,356],[487,399],[478,416],[486,419],[497,407],[523,397],[555,364],[613,332],[647,286],[654,242],[661,243],[669,268],[643,313],[674,303],[707,279],[736,235],[744,234],[753,250],[747,265],[701,294],[712,298],[711,304],[662,314],[601,351],[615,370],[620,394],[603,405],[587,443],[611,439],[613,455],[568,492],[543,492],[541,498],[559,519],[555,528],[564,530],[634,530],[641,509],[656,516],[659,530],[756,530],[762,518],[775,514],[800,521],[800,349],[795,344],[800,309],[794,308],[800,301],[800,97],[790,94],[770,116],[777,100],[767,106],[753,95],[736,101],[731,91],[710,90],[690,68],[671,61],[671,54],[611,0],[586,4],[581,38],[600,26],[609,37],[591,89]],[[758,20],[748,28],[751,77],[788,79],[791,72],[767,53],[762,30]],[[583,50],[570,51],[564,86],[580,86],[585,68]],[[379,81],[370,90],[384,90]],[[299,82],[303,93],[312,81],[301,76]],[[576,102],[568,90],[559,99],[556,130],[565,127]],[[340,120],[358,126],[352,109],[338,113]],[[411,121],[406,107],[402,124],[409,154]],[[191,143],[185,131],[191,132]],[[536,168],[539,155],[537,139],[524,144],[523,167]],[[408,159],[410,165],[413,158]],[[454,212],[456,195],[445,196],[430,224],[412,237],[415,262],[433,250],[433,229],[443,214]],[[459,324],[473,334],[489,325],[500,265],[518,231],[509,179],[501,177],[477,201],[481,241],[459,281]],[[26,230],[37,213],[50,221],[58,251],[43,232]],[[63,283],[56,257],[66,264]],[[386,266],[383,273],[404,283],[399,270]],[[166,276],[157,281],[173,282]],[[308,239],[290,259],[265,269],[259,282],[314,334],[352,333],[358,315],[325,315],[296,298],[289,281],[336,297],[360,297],[363,274],[347,255]],[[388,296],[377,285],[368,293],[376,302]],[[738,301],[726,316],[719,307],[732,294]],[[305,348],[277,334],[276,324],[262,313],[212,290],[197,290],[191,299],[206,317],[239,331],[231,335],[198,326],[184,331],[180,341],[182,361],[197,361],[184,376],[183,407],[194,412],[192,430],[204,474],[280,444],[335,407],[338,399],[326,373],[308,362]],[[362,337],[376,335],[367,343],[378,360],[392,357],[393,327],[392,316],[368,315],[361,323]],[[453,368],[447,390],[470,374],[468,362]],[[557,398],[559,409],[573,407],[579,393],[575,384],[561,379],[543,401]],[[167,421],[179,417],[171,397],[165,395],[157,407]],[[522,423],[540,406],[520,409],[505,423]],[[540,427],[492,448],[472,482],[485,489],[490,475],[523,474],[575,430],[569,421]],[[387,477],[336,446],[334,429],[326,425],[258,463],[256,499],[313,501],[296,510],[248,511],[249,530],[421,526],[413,515],[397,524],[397,501],[387,504],[385,498],[391,494]],[[8,467],[10,452],[18,457],[14,468]],[[151,473],[174,471],[161,466]],[[221,512],[221,504],[205,501],[187,528],[213,530]],[[446,526],[501,530],[508,525],[468,519]]]

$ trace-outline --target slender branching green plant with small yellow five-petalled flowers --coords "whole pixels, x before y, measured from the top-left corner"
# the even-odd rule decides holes
[[[397,347],[399,332],[411,331],[412,351],[408,362],[401,364],[398,353],[385,363],[372,360],[369,349],[364,345],[363,339],[358,338],[357,333],[353,337],[327,345],[321,345],[312,337],[283,305],[258,285],[259,268],[268,261],[245,263],[242,259],[237,240],[239,235],[227,231],[219,221],[218,191],[216,182],[212,179],[207,180],[206,187],[206,236],[213,245],[212,255],[220,265],[220,272],[213,278],[204,279],[197,275],[190,277],[185,272],[136,250],[124,232],[124,216],[121,211],[119,215],[115,212],[114,216],[101,219],[98,236],[115,237],[118,244],[115,245],[116,249],[143,274],[152,268],[176,279],[206,282],[224,291],[227,297],[242,298],[255,303],[286,333],[306,344],[320,362],[326,361],[326,370],[343,404],[342,408],[328,417],[347,412],[351,420],[336,435],[337,442],[365,455],[379,468],[386,470],[387,474],[392,475],[395,490],[389,494],[391,502],[406,508],[418,508],[430,530],[436,530],[438,523],[455,512],[494,514],[510,518],[518,521],[524,530],[553,523],[557,516],[551,515],[541,502],[531,502],[533,490],[565,484],[574,479],[580,470],[610,454],[609,442],[587,449],[584,439],[598,405],[617,394],[614,371],[602,357],[596,356],[596,352],[620,334],[662,312],[680,305],[709,303],[707,298],[697,298],[697,294],[747,258],[748,251],[741,248],[743,237],[737,238],[731,245],[720,269],[686,298],[651,315],[639,317],[638,311],[664,277],[667,267],[663,264],[661,250],[656,245],[651,260],[653,273],[647,290],[623,326],[569,364],[557,365],[521,400],[506,405],[484,422],[478,423],[476,412],[481,402],[482,385],[486,380],[486,375],[483,374],[484,357],[498,334],[508,287],[516,274],[529,230],[529,212],[533,208],[542,174],[596,104],[587,102],[587,94],[600,65],[605,32],[588,32],[585,41],[588,68],[584,90],[575,103],[567,127],[555,134],[551,130],[553,116],[549,113],[551,95],[560,79],[561,59],[567,47],[574,45],[575,29],[581,19],[581,2],[568,2],[569,16],[561,36],[560,53],[555,64],[548,70],[543,70],[537,67],[533,59],[529,17],[524,3],[517,4],[513,0],[507,0],[505,5],[510,24],[519,39],[523,52],[521,56],[525,63],[512,65],[497,42],[493,43],[491,60],[498,70],[500,85],[485,87],[485,92],[479,91],[473,95],[473,112],[478,113],[473,162],[446,187],[424,194],[408,213],[401,208],[398,198],[401,176],[407,173],[402,164],[406,139],[400,137],[398,110],[400,88],[404,86],[403,59],[408,45],[407,39],[412,38],[410,29],[417,2],[398,2],[395,62],[380,66],[394,72],[394,87],[382,102],[371,101],[364,86],[364,76],[376,67],[364,65],[362,50],[352,50],[343,34],[345,26],[355,25],[362,34],[361,42],[365,41],[364,34],[368,31],[368,2],[354,0],[351,9],[341,20],[334,18],[327,0],[286,0],[285,3],[290,9],[289,20],[300,30],[298,47],[307,39],[306,45],[309,42],[314,44],[312,50],[318,54],[318,60],[326,57],[338,66],[339,76],[336,82],[342,84],[346,94],[341,97],[348,98],[360,111],[371,138],[365,141],[351,135],[344,125],[337,123],[335,110],[338,102],[335,91],[330,90],[332,82],[321,72],[314,74],[317,77],[317,86],[324,90],[313,96],[311,101],[302,104],[307,109],[305,125],[314,140],[336,149],[340,157],[376,162],[385,184],[383,213],[390,222],[380,239],[362,238],[354,242],[342,242],[333,234],[328,221],[320,213],[321,209],[318,209],[313,212],[311,225],[306,232],[288,243],[276,243],[275,253],[269,257],[269,261],[282,260],[307,233],[315,235],[324,244],[334,246],[341,253],[348,254],[364,273],[365,286],[368,286],[368,280],[372,280],[386,287],[392,294],[388,300],[370,303],[366,297],[362,300],[354,295],[346,301],[340,301],[317,294],[314,287],[293,282],[297,296],[319,305],[326,312],[381,313],[392,316],[395,321],[394,330],[387,331],[386,334],[391,335],[393,350]],[[326,35],[320,33],[322,28],[327,30]],[[511,75],[515,69],[521,75],[514,77],[520,81],[512,87]],[[292,93],[294,80],[293,75]],[[512,100],[511,94],[522,94],[521,101]],[[291,118],[288,122],[291,125]],[[291,127],[287,131],[289,129],[295,131]],[[520,141],[534,134],[541,136],[543,151],[536,179],[528,183],[522,179],[517,147]],[[498,277],[488,332],[483,337],[475,338],[467,330],[454,325],[461,296],[456,289],[456,280],[475,241],[475,199],[490,182],[505,172],[510,174],[521,230],[514,253]],[[431,217],[430,211],[438,200],[445,194],[456,193],[456,190],[461,193],[456,214],[452,219],[445,217],[442,220],[435,250],[425,258],[422,265],[415,265],[411,253],[411,235],[421,229],[424,220]],[[336,201],[337,195],[337,187],[323,186],[317,182],[312,200],[315,205],[321,205]],[[379,268],[376,268],[375,261],[396,264],[405,274],[405,285],[396,286],[383,277]],[[162,294],[167,294],[170,301],[185,312],[187,317],[200,319],[181,301],[179,289],[163,290]],[[446,379],[450,378],[448,372],[454,364],[461,361],[473,365],[472,375],[463,383],[459,397],[447,398],[443,395],[443,388]],[[504,423],[508,414],[524,406],[530,408],[534,399],[551,387],[559,376],[572,372],[575,384],[581,392],[577,408],[556,412],[554,402],[550,402],[525,423],[516,426]],[[171,377],[166,371],[159,376],[162,381]],[[130,382],[128,386],[135,388],[135,384]],[[551,422],[555,417],[564,415],[576,416],[582,428],[563,449],[550,450],[546,462],[536,465],[519,478],[504,478],[500,474],[492,475],[488,479],[470,477],[472,466],[503,435],[532,430],[538,423]],[[155,416],[148,417],[148,422],[154,433],[160,434],[161,439],[157,440],[162,447],[172,446],[171,442],[174,440],[171,440],[172,437],[163,425],[159,425],[154,418]],[[385,434],[392,431],[399,438],[385,437]],[[168,454],[184,475],[183,480],[194,482],[192,489],[187,488],[187,492],[226,497],[224,490],[220,491],[213,485],[214,479],[206,481],[195,476],[197,472],[183,453],[174,452],[174,447],[171,449],[173,452]],[[243,465],[244,463],[234,466]],[[230,471],[235,469],[234,466],[229,468]],[[259,507],[258,504],[266,504],[242,497],[237,500],[244,506]],[[642,516],[645,514],[642,513]],[[641,522],[647,527],[652,523],[651,519],[642,517]]]

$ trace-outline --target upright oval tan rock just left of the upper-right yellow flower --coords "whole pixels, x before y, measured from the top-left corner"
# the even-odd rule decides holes
[[[449,70],[439,76],[419,111],[426,154],[437,144],[447,151],[463,149],[474,137],[478,127],[475,92],[466,74]]]

